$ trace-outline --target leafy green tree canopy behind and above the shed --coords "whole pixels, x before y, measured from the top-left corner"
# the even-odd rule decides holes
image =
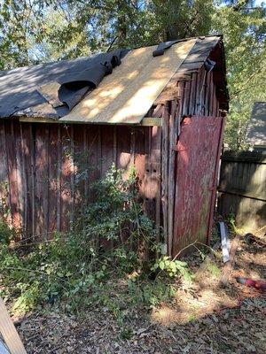
[[[252,104],[266,99],[265,27],[254,0],[0,0],[0,69],[223,33],[226,141],[239,149]]]

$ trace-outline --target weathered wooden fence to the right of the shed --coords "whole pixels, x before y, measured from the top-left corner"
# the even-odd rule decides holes
[[[221,215],[234,214],[238,227],[265,233],[266,151],[225,151],[218,190]]]

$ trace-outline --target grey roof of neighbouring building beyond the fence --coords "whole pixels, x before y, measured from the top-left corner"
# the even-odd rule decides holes
[[[266,102],[256,102],[247,128],[246,142],[250,145],[266,145]]]

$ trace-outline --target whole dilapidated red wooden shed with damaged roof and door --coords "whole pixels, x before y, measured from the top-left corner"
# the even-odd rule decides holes
[[[208,242],[227,110],[220,35],[1,72],[2,211],[23,237],[48,239],[113,163],[135,165],[168,254]],[[81,151],[89,173],[76,183]]]

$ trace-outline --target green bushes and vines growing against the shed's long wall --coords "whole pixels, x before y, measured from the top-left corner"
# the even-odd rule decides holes
[[[23,251],[10,248],[8,238],[4,239],[0,284],[2,296],[13,300],[13,312],[28,312],[43,304],[80,312],[98,304],[122,322],[127,309],[168,301],[173,286],[165,276],[179,273],[185,278],[186,265],[161,258],[166,272],[149,280],[138,245],[145,242],[154,249],[153,223],[138,202],[134,170],[128,177],[125,180],[112,167],[105,179],[96,182],[91,190],[95,201],[85,207],[65,237],[55,234],[51,242],[28,250],[23,247]],[[127,329],[122,336],[129,336]]]

